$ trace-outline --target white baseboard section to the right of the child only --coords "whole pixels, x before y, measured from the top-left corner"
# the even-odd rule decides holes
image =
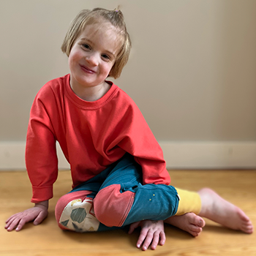
[[[167,168],[255,169],[254,142],[159,142]]]

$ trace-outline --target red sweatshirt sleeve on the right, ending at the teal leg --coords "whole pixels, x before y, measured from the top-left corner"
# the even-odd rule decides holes
[[[162,148],[132,99],[121,116],[119,124],[123,128],[116,132],[118,146],[132,154],[142,167],[143,184],[170,184]]]

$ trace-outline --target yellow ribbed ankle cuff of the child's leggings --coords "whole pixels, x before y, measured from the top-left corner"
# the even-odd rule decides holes
[[[179,202],[175,215],[183,215],[188,212],[199,214],[201,210],[201,199],[197,192],[190,192],[184,189],[177,189]]]

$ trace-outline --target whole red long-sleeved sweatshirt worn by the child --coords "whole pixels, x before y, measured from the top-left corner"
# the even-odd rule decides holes
[[[94,102],[80,99],[69,75],[46,83],[34,99],[26,140],[31,202],[53,197],[56,140],[70,164],[72,187],[96,176],[126,152],[143,170],[143,184],[170,184],[162,149],[132,99],[112,82]]]

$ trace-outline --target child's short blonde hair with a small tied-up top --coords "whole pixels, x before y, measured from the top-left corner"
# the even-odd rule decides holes
[[[121,38],[121,48],[116,56],[115,64],[108,76],[118,78],[121,75],[121,71],[129,59],[129,53],[132,47],[127,27],[124,23],[124,15],[121,10],[106,10],[102,8],[95,8],[94,10],[82,10],[78,13],[72,23],[69,26],[67,34],[61,45],[61,50],[69,56],[69,53],[74,45],[75,40],[86,25],[99,22],[100,18],[104,18],[109,21],[115,28],[116,32]]]

